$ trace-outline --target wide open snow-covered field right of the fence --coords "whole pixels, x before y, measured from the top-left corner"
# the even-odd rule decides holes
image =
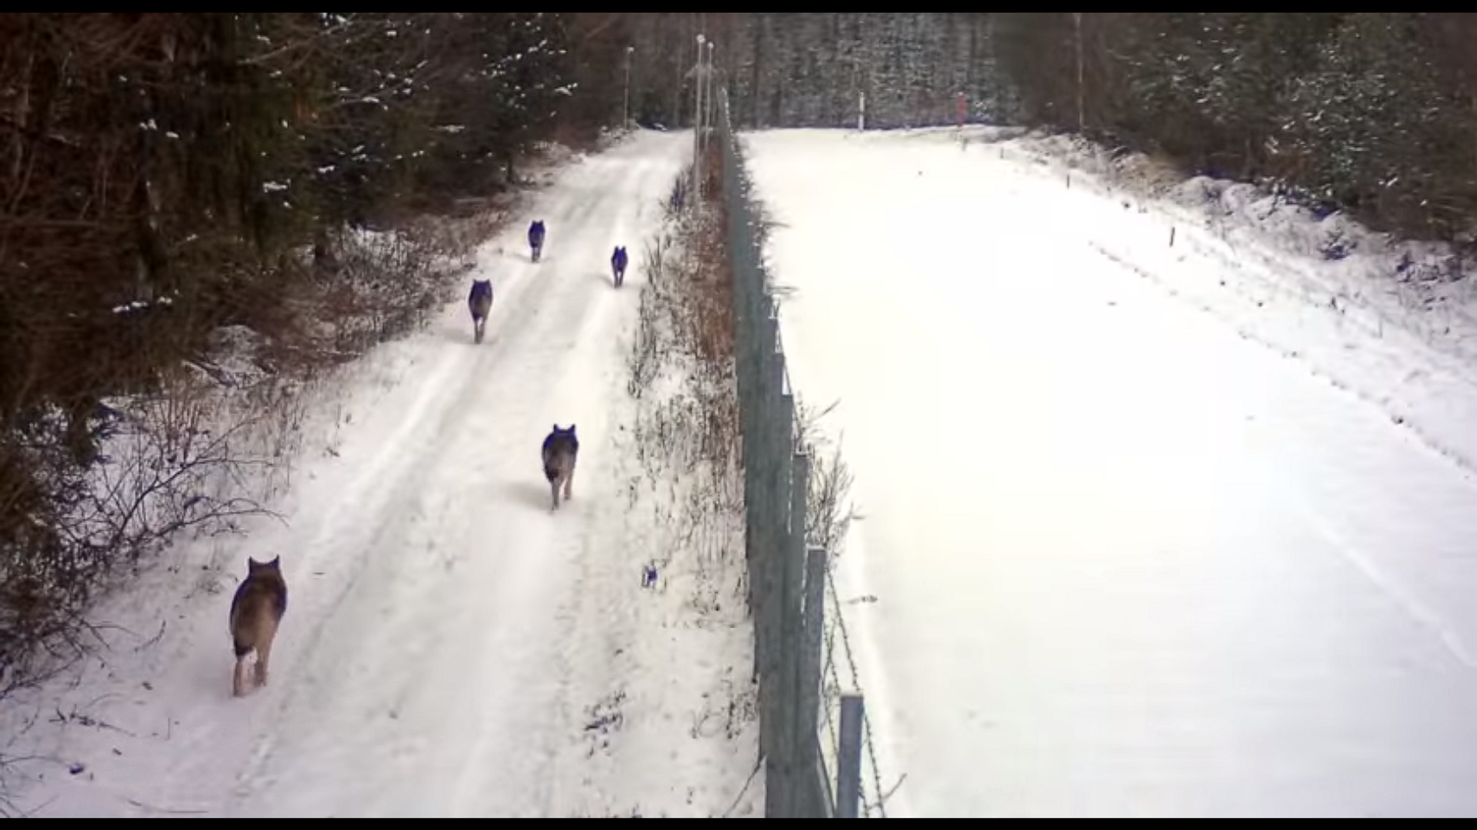
[[[1477,812],[1471,279],[969,137],[744,137],[889,815]]]

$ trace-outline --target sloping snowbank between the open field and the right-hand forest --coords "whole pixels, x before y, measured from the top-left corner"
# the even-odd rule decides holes
[[[1059,177],[1103,254],[1477,467],[1477,291],[1450,245],[1399,241],[1244,182],[1183,179],[1077,136],[1001,134],[964,139]]]

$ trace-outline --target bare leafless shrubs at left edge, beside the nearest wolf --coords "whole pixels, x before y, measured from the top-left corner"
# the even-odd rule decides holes
[[[0,443],[0,696],[84,650],[93,597],[185,530],[230,533],[263,514],[245,481],[270,464],[241,446],[253,418],[223,421],[205,381],[120,403],[105,455],[83,468],[43,425]],[[270,416],[258,412],[257,418]],[[56,424],[61,421],[56,419]],[[225,422],[226,427],[219,424]]]

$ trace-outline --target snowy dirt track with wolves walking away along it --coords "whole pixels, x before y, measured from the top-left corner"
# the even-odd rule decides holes
[[[495,287],[482,346],[465,287],[428,331],[387,346],[412,362],[408,378],[337,459],[306,468],[289,526],[263,524],[226,564],[241,575],[247,554],[282,555],[291,603],[270,685],[229,697],[227,583],[137,678],[114,669],[112,706],[93,716],[117,730],[56,749],[87,772],[47,775],[56,800],[40,815],[566,809],[570,789],[588,786],[572,768],[588,702],[566,688],[583,659],[576,607],[601,589],[583,583],[586,563],[619,543],[606,532],[619,510],[603,505],[614,498],[610,415],[644,279],[632,267],[616,291],[609,258],[654,230],[688,145],[637,134],[536,196],[482,255]],[[539,264],[532,219],[548,224]],[[572,422],[573,501],[551,514],[539,443]]]

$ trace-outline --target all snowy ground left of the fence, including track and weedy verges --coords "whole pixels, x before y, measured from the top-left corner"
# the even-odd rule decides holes
[[[628,495],[641,464],[626,353],[644,275],[610,251],[662,224],[690,140],[640,133],[576,158],[480,253],[465,300],[354,366],[289,493],[247,538],[182,542],[109,600],[109,650],[4,702],[10,808],[40,817],[707,815],[752,740],[703,728],[733,626],[644,589]],[[529,261],[527,219],[548,223]],[[462,292],[461,297],[465,294]],[[573,501],[549,512],[539,443],[578,424]],[[313,434],[326,434],[313,433]],[[675,551],[660,551],[672,557]],[[291,592],[270,685],[230,697],[226,616],[247,557]],[[746,628],[737,631],[747,634]],[[747,735],[747,733],[744,733]],[[640,758],[635,758],[640,755]],[[622,764],[603,759],[619,758]]]

